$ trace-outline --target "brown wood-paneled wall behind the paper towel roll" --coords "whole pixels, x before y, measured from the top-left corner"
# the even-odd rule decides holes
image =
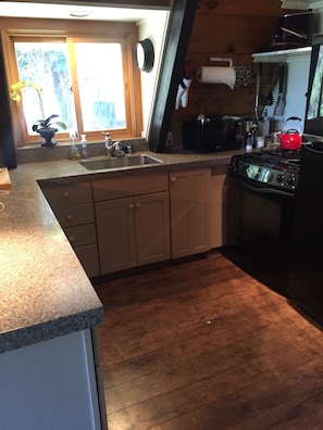
[[[173,131],[185,119],[203,113],[251,116],[254,112],[257,68],[251,54],[268,47],[277,30],[278,17],[291,12],[281,9],[281,0],[200,0],[186,55],[192,78],[188,106],[173,114]],[[200,84],[199,66],[214,65],[211,56],[232,58],[234,66],[252,69],[246,87],[234,90],[226,85]]]

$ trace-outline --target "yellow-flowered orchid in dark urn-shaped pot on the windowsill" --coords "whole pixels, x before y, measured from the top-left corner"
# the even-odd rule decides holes
[[[40,113],[41,113],[41,119],[37,119],[33,124],[33,131],[39,132],[41,137],[44,137],[45,141],[41,143],[42,147],[54,147],[57,144],[55,141],[52,140],[54,137],[55,132],[58,131],[57,127],[61,127],[62,129],[66,129],[67,126],[66,124],[62,123],[61,121],[55,121],[55,118],[59,117],[57,114],[52,114],[49,117],[45,118],[45,112],[44,112],[44,104],[42,104],[42,89],[38,84],[34,84],[30,80],[23,80],[20,83],[15,83],[11,85],[11,92],[10,92],[10,98],[13,101],[20,101],[21,100],[21,91],[24,88],[33,88],[37,92],[38,96],[38,101],[39,101],[39,108],[40,108]]]

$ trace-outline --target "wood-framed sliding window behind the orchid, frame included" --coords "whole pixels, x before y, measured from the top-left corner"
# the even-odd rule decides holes
[[[27,80],[41,88],[41,103],[33,87],[23,89],[21,103],[12,102],[16,146],[38,143],[33,123],[52,114],[67,126],[58,130],[55,140],[67,141],[74,130],[89,141],[102,140],[107,130],[114,139],[139,137],[140,76],[133,65],[137,35],[124,28],[105,37],[48,33],[8,34],[10,84]]]

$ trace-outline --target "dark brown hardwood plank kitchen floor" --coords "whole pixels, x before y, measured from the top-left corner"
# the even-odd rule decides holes
[[[323,428],[323,332],[220,253],[96,290],[109,430]]]

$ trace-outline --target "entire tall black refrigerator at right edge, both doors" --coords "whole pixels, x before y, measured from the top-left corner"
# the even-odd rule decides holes
[[[288,294],[323,325],[323,36],[313,38]]]

